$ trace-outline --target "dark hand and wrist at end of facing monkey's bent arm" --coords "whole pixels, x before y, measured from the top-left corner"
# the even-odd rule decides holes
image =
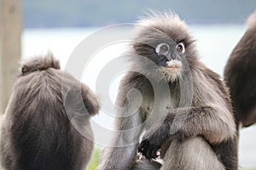
[[[138,146],[138,151],[143,154],[148,160],[156,158],[158,150],[162,144],[170,138],[170,126],[168,123],[163,123],[161,126],[151,127],[143,136],[143,141]]]

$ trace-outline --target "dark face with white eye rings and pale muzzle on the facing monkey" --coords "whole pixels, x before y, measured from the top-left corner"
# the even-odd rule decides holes
[[[175,82],[189,69],[186,43],[175,42],[171,38],[170,40],[160,39],[149,44],[148,42],[138,43],[136,52],[158,65],[158,71],[163,72],[168,81]]]

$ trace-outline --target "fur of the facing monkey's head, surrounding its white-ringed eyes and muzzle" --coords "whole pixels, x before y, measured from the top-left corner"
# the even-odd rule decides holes
[[[160,79],[160,74],[164,73],[164,79],[167,78],[174,82],[183,74],[189,73],[197,62],[195,39],[191,36],[189,27],[183,20],[179,19],[177,14],[151,10],[145,18],[137,21],[134,33],[131,41],[131,65],[134,69],[145,71],[145,74],[150,77],[154,75]],[[170,50],[168,57],[156,53],[156,48],[161,43],[168,44],[168,50]],[[167,61],[172,60],[170,54],[176,53],[176,47],[179,43],[183,43],[184,48],[186,48],[186,53],[175,54],[182,66],[172,62],[169,62],[171,65],[167,66]],[[178,68],[175,68],[176,66]],[[160,74],[156,74],[157,72]]]

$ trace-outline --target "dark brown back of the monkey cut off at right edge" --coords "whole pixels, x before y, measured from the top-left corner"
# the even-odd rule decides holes
[[[256,122],[256,12],[249,27],[225,65],[224,80],[230,88],[236,124],[248,127]]]

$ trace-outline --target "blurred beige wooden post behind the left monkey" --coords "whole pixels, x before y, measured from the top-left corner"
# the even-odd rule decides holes
[[[22,1],[0,0],[0,113],[6,108],[21,55]]]

